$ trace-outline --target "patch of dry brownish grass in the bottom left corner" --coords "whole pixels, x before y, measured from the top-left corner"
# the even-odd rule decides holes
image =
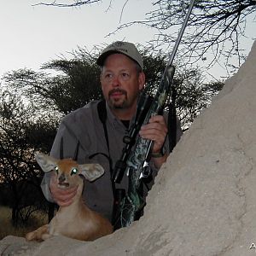
[[[47,223],[47,216],[40,212],[35,212],[27,226],[15,228],[11,222],[11,209],[0,206],[0,240],[5,236],[25,236],[27,232],[37,229]]]

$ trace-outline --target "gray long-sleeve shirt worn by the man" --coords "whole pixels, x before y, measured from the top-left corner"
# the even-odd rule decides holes
[[[63,158],[73,158],[77,144],[79,142],[79,164],[98,163],[103,166],[105,173],[96,181],[90,183],[84,181],[83,198],[90,209],[102,213],[103,216],[111,220],[113,210],[113,187],[111,183],[111,174],[109,170],[108,146],[102,121],[97,112],[98,101],[93,101],[79,108],[72,113],[67,114],[61,121],[57,131],[55,142],[51,148],[50,155],[60,158],[61,137],[63,137]],[[125,146],[123,137],[128,134],[125,125],[110,111],[108,104],[106,126],[108,130],[109,154],[113,161],[113,167],[122,155],[122,149]],[[180,125],[177,125],[177,140],[181,137],[182,131]],[[166,140],[167,141],[167,140]],[[166,147],[166,151],[168,147]],[[101,154],[96,154],[101,153]],[[96,154],[90,159],[90,155]],[[105,154],[105,155],[104,155]],[[153,176],[157,169],[151,163]],[[47,200],[53,201],[49,191],[49,173],[44,175],[41,187]],[[128,177],[124,176],[120,184],[116,184],[117,189],[127,189]],[[152,185],[149,184],[149,187]]]

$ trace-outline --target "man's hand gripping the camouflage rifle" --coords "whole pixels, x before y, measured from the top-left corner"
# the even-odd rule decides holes
[[[142,126],[139,134],[143,138],[154,141],[152,153],[159,153],[165,143],[167,131],[164,117],[162,115],[154,115],[149,119],[147,125]]]

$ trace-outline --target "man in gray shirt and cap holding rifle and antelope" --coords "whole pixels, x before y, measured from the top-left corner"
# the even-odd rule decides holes
[[[105,174],[102,177],[93,183],[84,181],[83,196],[92,210],[111,220],[113,186],[115,189],[127,189],[128,184],[126,176],[121,183],[113,184],[111,169],[125,146],[123,137],[128,134],[129,125],[136,113],[137,98],[143,90],[145,74],[142,56],[134,44],[127,42],[110,44],[102,51],[97,64],[102,67],[101,84],[106,101],[103,102],[103,108],[99,108],[99,101],[93,101],[67,114],[61,121],[50,154],[55,158],[60,157],[62,138],[63,158],[72,158],[79,143],[79,163],[94,162],[103,166]],[[101,113],[105,115],[103,121]],[[148,125],[143,125],[139,131],[139,136],[154,141],[150,162],[153,176],[167,158],[166,134],[166,120],[161,115],[152,117]],[[180,136],[181,130],[178,127],[177,138]],[[48,174],[44,176],[42,189],[49,201],[55,201],[61,207],[69,205],[76,194],[76,189],[58,189],[54,173],[51,177]]]

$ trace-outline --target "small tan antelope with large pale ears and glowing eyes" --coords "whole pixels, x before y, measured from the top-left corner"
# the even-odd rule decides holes
[[[26,241],[44,241],[51,236],[62,235],[83,241],[92,241],[113,232],[113,226],[107,218],[93,212],[84,204],[82,191],[84,182],[80,174],[87,180],[94,181],[104,173],[98,164],[79,165],[75,160],[55,160],[49,155],[38,153],[38,165],[44,172],[55,170],[58,186],[61,189],[78,187],[73,203],[68,207],[60,207],[49,224],[26,234]]]

